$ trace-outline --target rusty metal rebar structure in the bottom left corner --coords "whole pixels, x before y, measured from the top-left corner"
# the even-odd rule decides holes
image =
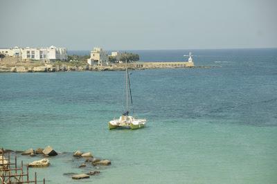
[[[35,172],[35,179],[29,178],[29,167],[26,166],[26,172],[24,172],[23,161],[21,160],[21,166],[17,166],[17,156],[15,156],[15,163],[10,162],[10,151],[8,152],[8,158],[4,156],[4,149],[0,149],[0,182],[1,184],[12,183],[45,183],[43,181],[37,181],[37,172]]]

